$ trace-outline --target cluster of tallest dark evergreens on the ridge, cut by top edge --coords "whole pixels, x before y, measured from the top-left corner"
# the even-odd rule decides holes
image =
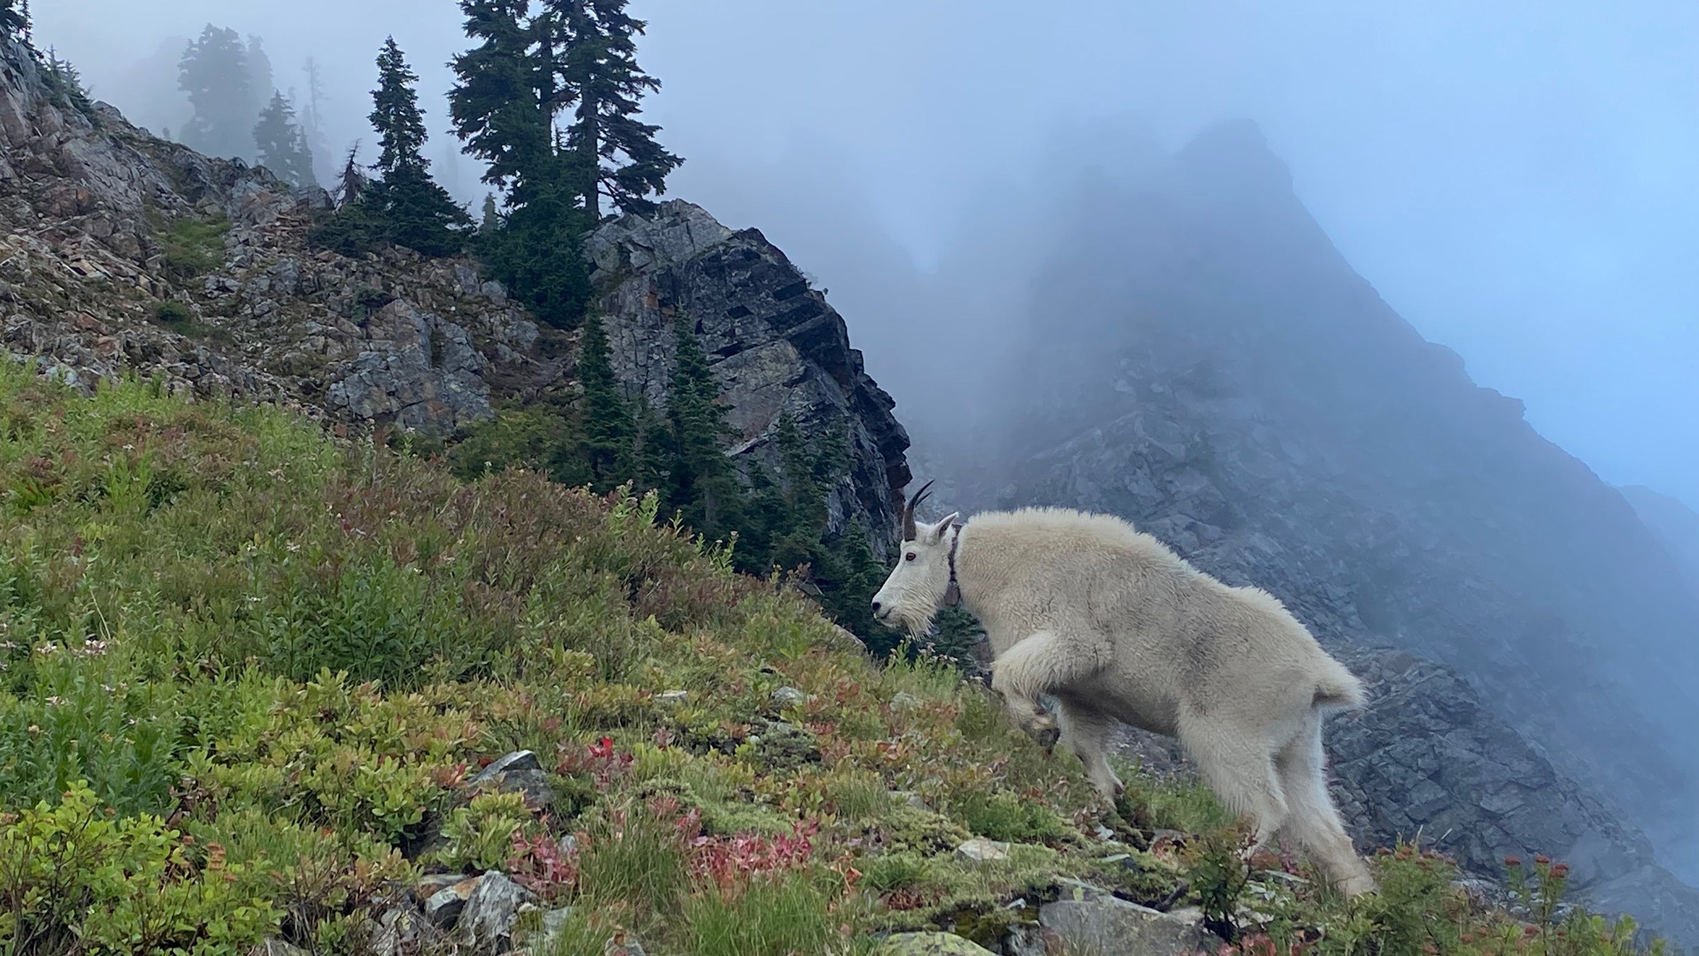
[[[474,48],[452,63],[450,116],[488,163],[484,182],[510,187],[479,253],[561,328],[576,327],[590,299],[579,243],[601,219],[601,197],[644,211],[681,162],[654,141],[656,126],[634,119],[659,82],[637,68],[632,37],[644,24],[624,10],[624,0],[460,0]]]

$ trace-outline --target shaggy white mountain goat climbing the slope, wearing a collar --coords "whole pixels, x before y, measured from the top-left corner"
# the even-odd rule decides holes
[[[992,689],[1035,738],[1060,742],[1109,801],[1115,721],[1177,737],[1210,788],[1249,813],[1261,849],[1284,835],[1346,895],[1374,890],[1327,793],[1322,718],[1363,684],[1281,602],[1228,587],[1132,524],[1067,509],[951,514],[902,505],[897,566],[873,616],[923,633],[960,602],[991,640]],[[1060,703],[1058,721],[1038,704]]]

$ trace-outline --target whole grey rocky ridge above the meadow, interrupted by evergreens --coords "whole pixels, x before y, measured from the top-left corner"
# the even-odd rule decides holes
[[[105,105],[58,105],[27,53],[0,43],[0,344],[12,356],[85,386],[138,371],[185,395],[432,432],[571,388],[576,335],[540,327],[476,262],[313,250],[323,191],[156,139]],[[197,240],[207,264],[185,270],[182,226],[219,218],[228,231]],[[664,408],[669,322],[688,310],[742,432],[727,451],[776,454],[780,408],[814,434],[841,429],[850,468],[831,527],[861,524],[883,555],[907,435],[843,320],[785,255],[688,202],[603,226],[588,248],[627,386]],[[182,311],[161,322],[161,303]]]

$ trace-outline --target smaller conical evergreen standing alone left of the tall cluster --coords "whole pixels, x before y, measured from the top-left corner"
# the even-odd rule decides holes
[[[425,114],[413,85],[418,75],[394,37],[377,56],[377,88],[372,90],[372,128],[379,155],[372,168],[382,177],[367,191],[372,214],[386,225],[387,240],[425,255],[449,255],[460,248],[462,230],[472,218],[430,177],[425,158]]]

